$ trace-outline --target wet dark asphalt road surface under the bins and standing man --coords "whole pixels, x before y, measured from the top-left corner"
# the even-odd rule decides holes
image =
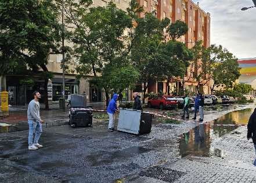
[[[214,114],[207,111],[205,118],[214,119],[229,110],[240,108],[243,106],[215,109]],[[250,111],[244,116],[248,118],[248,114]],[[210,152],[210,144],[215,136],[207,132],[201,143],[203,148],[200,148],[201,140],[198,143],[193,140],[196,134],[200,134],[200,129],[196,129],[196,133],[190,132],[196,126],[196,123],[189,122],[155,123],[152,132],[142,136],[118,131],[109,133],[104,120],[93,123],[93,128],[53,126],[43,129],[40,144],[44,148],[37,151],[28,151],[27,131],[3,133],[0,134],[0,182],[114,182],[119,179],[143,182],[138,180],[138,176],[147,176],[149,167],[164,166],[177,162],[183,156],[197,155],[193,152],[203,148]],[[187,141],[192,141],[192,144],[182,145],[188,131],[192,140]],[[205,131],[207,127],[201,133]],[[174,174],[179,175],[179,172],[175,170],[170,173]],[[159,179],[155,180],[160,182]],[[165,181],[173,182],[175,179],[167,178]]]

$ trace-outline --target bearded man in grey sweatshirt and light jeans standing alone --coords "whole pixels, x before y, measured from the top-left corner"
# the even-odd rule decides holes
[[[40,105],[39,99],[41,94],[38,91],[33,93],[34,100],[31,100],[27,108],[27,119],[28,119],[28,150],[36,150],[43,146],[38,144],[38,140],[42,134],[42,123],[44,122],[40,117]],[[35,132],[35,137],[34,137]],[[34,137],[34,142],[33,142]]]

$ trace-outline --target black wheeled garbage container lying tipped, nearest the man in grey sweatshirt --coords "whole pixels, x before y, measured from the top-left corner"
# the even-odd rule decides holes
[[[90,107],[71,107],[70,126],[92,127],[92,108]]]

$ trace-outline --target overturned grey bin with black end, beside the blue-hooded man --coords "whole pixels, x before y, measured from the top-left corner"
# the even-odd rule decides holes
[[[132,134],[150,133],[153,115],[134,109],[120,108],[117,130]]]

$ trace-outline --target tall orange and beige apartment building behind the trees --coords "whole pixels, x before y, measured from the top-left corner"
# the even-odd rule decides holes
[[[138,0],[141,6],[144,6],[146,12],[153,13],[158,19],[167,17],[174,23],[176,20],[184,21],[189,30],[185,36],[182,36],[179,41],[191,48],[197,41],[202,41],[203,46],[210,46],[210,13],[205,13],[200,8],[199,3],[194,3],[192,0]],[[141,13],[143,17],[145,13]],[[200,63],[194,63],[200,64]],[[193,79],[193,68],[188,68],[184,78],[175,78],[170,80],[169,87],[171,91],[182,93],[183,84],[186,89],[196,92],[197,83]],[[198,71],[200,72],[200,71]],[[150,82],[147,92],[167,93],[167,80],[163,82]],[[200,90],[205,94],[210,93],[210,83],[200,86]]]

